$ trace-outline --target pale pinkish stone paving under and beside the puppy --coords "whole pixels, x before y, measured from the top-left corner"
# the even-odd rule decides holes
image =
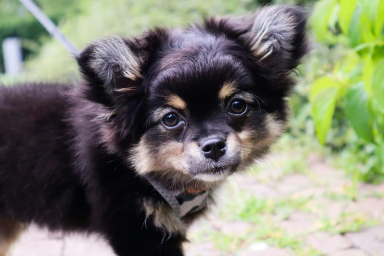
[[[280,167],[274,165],[270,170],[236,177],[231,183],[246,194],[272,201],[309,197],[304,206],[284,218],[272,217],[276,217],[284,235],[300,235],[303,245],[311,251],[295,253],[289,244],[279,248],[259,238],[252,240],[257,226],[251,221],[219,218],[221,215],[212,210],[206,220],[191,228],[191,243],[185,245],[186,256],[384,256],[384,184],[353,184],[344,172],[319,155],[310,155],[307,166],[306,173],[282,174]],[[225,192],[223,195],[227,196]],[[227,206],[219,202],[218,207],[225,212]],[[200,232],[203,228],[218,235],[205,236]],[[230,239],[223,242],[223,237]],[[224,249],[221,246],[236,239],[243,242]],[[32,227],[23,234],[10,256],[84,255],[114,254],[101,237],[64,237]]]

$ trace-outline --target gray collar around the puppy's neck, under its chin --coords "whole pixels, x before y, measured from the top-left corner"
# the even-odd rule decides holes
[[[202,210],[208,204],[208,191],[189,192],[169,190],[149,180],[157,192],[171,205],[176,217],[182,218],[190,213]]]

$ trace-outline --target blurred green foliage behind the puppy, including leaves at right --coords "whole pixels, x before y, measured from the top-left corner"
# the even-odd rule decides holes
[[[152,26],[241,15],[266,4],[307,6],[313,50],[289,99],[287,149],[294,143],[325,152],[356,179],[383,180],[384,0],[35,1],[79,49],[102,36],[135,36]],[[78,80],[73,57],[17,0],[0,1],[0,40],[8,36],[21,37],[25,70],[19,77],[0,75],[2,83]]]

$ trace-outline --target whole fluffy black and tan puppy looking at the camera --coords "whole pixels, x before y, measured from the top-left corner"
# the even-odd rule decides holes
[[[212,191],[284,131],[306,23],[268,6],[112,36],[76,56],[76,86],[1,87],[0,256],[30,224],[182,256]]]

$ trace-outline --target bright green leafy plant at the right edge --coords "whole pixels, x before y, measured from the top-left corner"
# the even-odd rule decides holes
[[[319,0],[313,11],[318,41],[347,47],[333,71],[317,79],[310,90],[316,134],[327,143],[341,109],[358,136],[356,151],[364,157],[362,176],[384,176],[384,0]],[[340,117],[339,117],[340,118]],[[358,155],[358,152],[356,152]]]

